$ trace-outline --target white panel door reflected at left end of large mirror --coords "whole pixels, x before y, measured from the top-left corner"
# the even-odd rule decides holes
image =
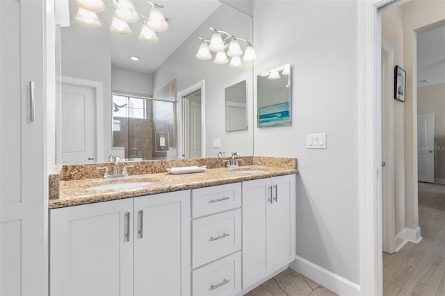
[[[62,84],[62,163],[95,162],[96,92],[93,88]]]

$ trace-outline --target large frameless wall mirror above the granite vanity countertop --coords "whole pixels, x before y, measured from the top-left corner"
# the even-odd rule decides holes
[[[75,20],[76,1],[67,2],[70,22],[56,28],[57,163],[104,162],[111,154],[130,161],[253,154],[252,90],[243,119],[250,124],[227,132],[225,118],[226,88],[240,81],[252,87],[253,63],[219,65],[215,52],[195,57],[198,38],[211,39],[209,27],[252,42],[252,17],[216,0],[154,1],[169,28],[156,33],[158,42],[143,42],[143,18],[110,30],[114,8],[106,5],[97,13],[102,26],[85,26]],[[147,17],[152,8],[143,0],[133,5]]]

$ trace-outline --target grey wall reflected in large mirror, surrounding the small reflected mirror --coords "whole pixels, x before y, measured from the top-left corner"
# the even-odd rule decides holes
[[[241,156],[253,154],[252,117],[252,63],[244,63],[243,69],[228,65],[216,65],[212,60],[195,58],[200,40],[211,38],[209,26],[228,31],[233,35],[252,40],[252,17],[225,4],[221,5],[205,20],[187,40],[159,67],[153,75],[153,92],[172,79],[177,79],[177,92],[181,92],[205,79],[206,104],[206,156],[216,156],[218,151],[226,155],[237,151]],[[215,56],[215,54],[213,54]],[[248,124],[247,131],[225,131],[225,88],[247,79],[248,83]],[[213,148],[212,140],[221,139],[221,147]]]

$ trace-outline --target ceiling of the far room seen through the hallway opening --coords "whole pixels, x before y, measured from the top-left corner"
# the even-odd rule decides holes
[[[445,26],[417,35],[417,81],[418,86],[445,83]]]

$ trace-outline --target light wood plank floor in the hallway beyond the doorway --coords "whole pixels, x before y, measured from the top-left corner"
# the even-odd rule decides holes
[[[423,240],[383,253],[383,295],[445,296],[445,185],[419,183]]]

